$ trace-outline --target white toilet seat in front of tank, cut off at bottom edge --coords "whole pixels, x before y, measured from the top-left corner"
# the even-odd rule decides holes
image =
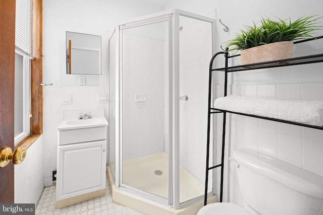
[[[196,215],[250,215],[245,209],[234,203],[211,203],[202,207]]]

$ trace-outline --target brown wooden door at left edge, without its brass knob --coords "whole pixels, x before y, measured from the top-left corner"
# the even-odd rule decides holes
[[[0,0],[0,150],[14,150],[16,1]],[[14,165],[0,168],[0,203],[14,203]]]

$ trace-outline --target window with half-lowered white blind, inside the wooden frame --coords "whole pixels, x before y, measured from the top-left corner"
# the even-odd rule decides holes
[[[10,0],[12,1],[12,0]],[[16,0],[15,24],[15,144],[30,135],[30,61],[32,59],[32,0]]]

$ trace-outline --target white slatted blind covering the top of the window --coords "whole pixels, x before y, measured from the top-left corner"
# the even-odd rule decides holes
[[[32,0],[16,0],[16,50],[32,58]]]

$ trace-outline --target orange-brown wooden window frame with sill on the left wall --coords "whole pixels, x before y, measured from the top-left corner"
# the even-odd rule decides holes
[[[31,114],[30,135],[15,145],[15,149],[28,149],[43,132],[43,89],[42,82],[42,0],[33,0],[32,53],[30,62]]]

